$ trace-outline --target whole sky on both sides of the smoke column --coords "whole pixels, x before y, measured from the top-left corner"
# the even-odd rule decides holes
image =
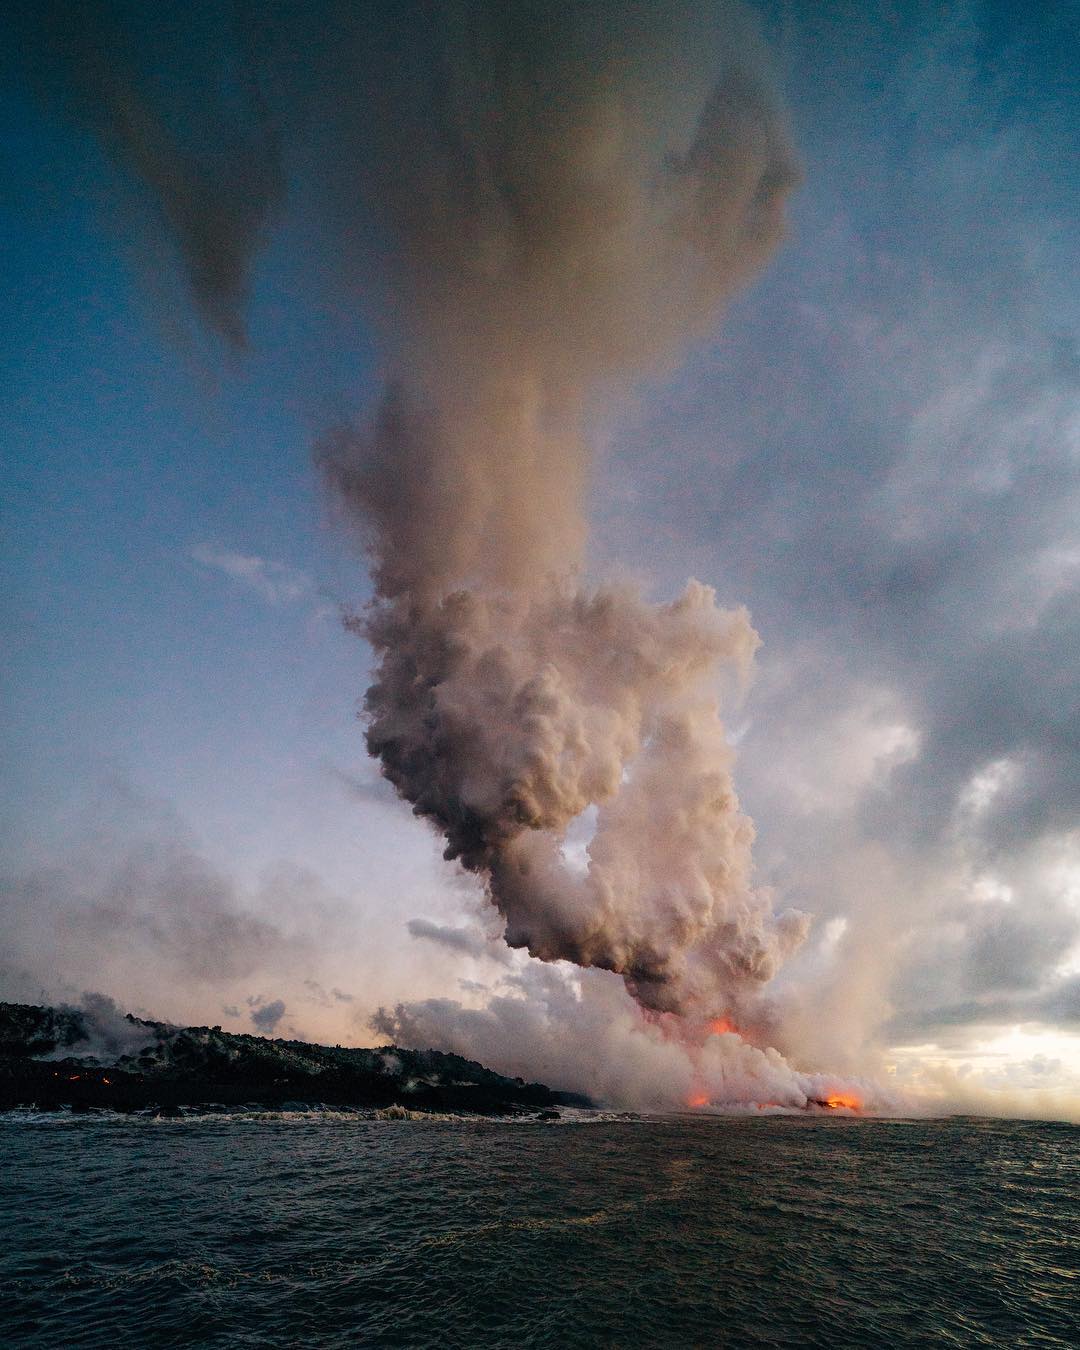
[[[1077,1102],[1080,14],[757,14],[788,235],[595,410],[589,568],[697,576],[761,637],[725,721],[757,883],[813,917],[784,1053]],[[385,278],[342,281],[309,165],[252,169],[273,211],[223,340],[31,68],[0,68],[0,996],[344,1044],[437,1011],[497,1057],[566,991],[366,755],[343,616],[371,579],[313,464],[379,398]]]

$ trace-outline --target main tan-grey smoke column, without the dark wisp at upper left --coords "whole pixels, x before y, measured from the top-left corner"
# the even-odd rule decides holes
[[[806,926],[752,886],[720,720],[756,634],[695,582],[660,606],[579,586],[583,423],[768,256],[792,154],[733,9],[443,18],[444,78],[369,146],[397,378],[323,456],[375,564],[369,748],[513,946],[653,1010],[737,1008]],[[590,806],[582,876],[562,846]]]

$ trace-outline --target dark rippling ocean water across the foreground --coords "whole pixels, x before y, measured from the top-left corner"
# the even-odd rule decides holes
[[[0,1343],[1077,1346],[1080,1129],[0,1118]]]

